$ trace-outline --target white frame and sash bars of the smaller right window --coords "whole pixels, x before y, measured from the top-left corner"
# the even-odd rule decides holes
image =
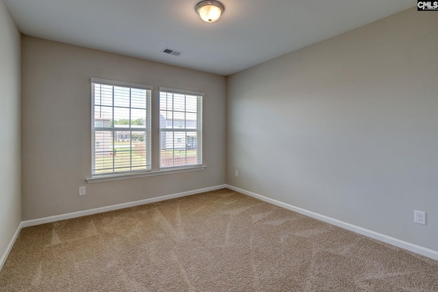
[[[196,128],[195,129],[190,129],[190,128],[186,128],[185,125],[187,124],[187,119],[185,118],[183,120],[183,128],[179,127],[179,124],[177,127],[175,127],[175,125],[170,129],[168,128],[162,128],[161,127],[161,121],[159,124],[159,170],[161,171],[165,171],[165,170],[173,170],[173,169],[185,169],[185,168],[196,168],[199,166],[203,165],[203,99],[205,94],[203,92],[196,92],[196,91],[190,91],[190,90],[179,90],[179,89],[175,89],[175,88],[164,88],[164,87],[160,87],[159,88],[159,94],[158,94],[158,102],[159,102],[159,115],[161,115],[161,96],[162,93],[166,93],[166,94],[183,94],[184,96],[196,96]],[[166,109],[167,110],[167,109]],[[172,111],[175,111],[172,108]],[[184,111],[185,113],[187,113],[187,111]],[[167,122],[166,122],[167,124]],[[172,119],[172,124],[175,124],[175,120]],[[178,133],[178,132],[196,132],[196,163],[194,164],[184,164],[184,165],[172,165],[172,166],[163,166],[162,165],[162,133],[164,132],[173,132],[173,133]],[[185,135],[186,139],[187,139],[187,134]],[[175,139],[175,137],[174,137]],[[164,142],[166,143],[166,141]],[[185,140],[185,150],[187,151],[187,140]],[[173,151],[175,151],[175,148],[173,148]],[[175,159],[175,158],[174,158]],[[174,161],[172,159],[172,161]],[[175,163],[175,161],[174,161]]]

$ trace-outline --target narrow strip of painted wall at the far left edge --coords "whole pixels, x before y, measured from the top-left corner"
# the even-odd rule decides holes
[[[21,222],[21,36],[0,0],[0,257]]]

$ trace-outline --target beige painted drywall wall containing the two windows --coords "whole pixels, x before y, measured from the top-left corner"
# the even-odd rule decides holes
[[[23,36],[22,50],[23,220],[225,183],[225,77],[30,36]],[[153,170],[159,167],[159,87],[204,92],[207,169],[87,184],[85,178],[91,176],[90,77],[154,87]],[[79,197],[81,185],[87,194]]]

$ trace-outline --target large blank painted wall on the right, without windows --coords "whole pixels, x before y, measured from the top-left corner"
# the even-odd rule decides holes
[[[406,10],[228,77],[227,183],[438,250],[437,31]]]

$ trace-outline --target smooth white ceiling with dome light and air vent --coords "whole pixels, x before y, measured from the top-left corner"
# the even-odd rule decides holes
[[[222,0],[205,23],[196,0],[4,0],[22,34],[219,75],[415,6],[413,0]],[[179,57],[164,47],[183,51]]]

